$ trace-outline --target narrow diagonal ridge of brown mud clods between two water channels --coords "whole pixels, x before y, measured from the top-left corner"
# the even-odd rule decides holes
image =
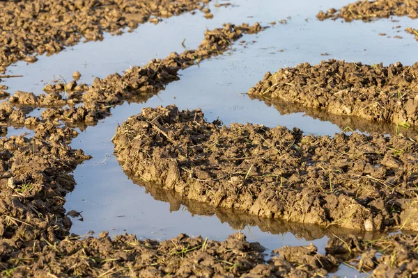
[[[45,87],[47,95],[36,96],[31,92],[17,91],[8,101],[1,104],[0,117],[2,116],[5,122],[22,124],[26,121],[27,113],[19,107],[40,106],[47,107],[41,114],[43,120],[94,124],[109,116],[112,107],[125,101],[144,99],[157,94],[164,90],[165,85],[179,79],[180,70],[199,64],[201,60],[223,54],[244,34],[254,34],[263,30],[264,27],[258,23],[253,26],[224,24],[222,28],[206,31],[205,38],[197,49],[186,50],[181,54],[172,53],[164,59],[151,60],[144,67],[132,67],[123,76],[111,74],[104,79],[96,78],[90,86],[78,85],[76,81],[49,85]],[[67,95],[65,99],[63,89]]]

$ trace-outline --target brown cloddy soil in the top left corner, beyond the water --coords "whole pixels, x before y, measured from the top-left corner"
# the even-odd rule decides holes
[[[157,23],[194,10],[210,0],[158,1],[0,1],[0,72],[18,60],[34,63],[36,55],[54,54],[80,40],[120,35],[144,22]]]

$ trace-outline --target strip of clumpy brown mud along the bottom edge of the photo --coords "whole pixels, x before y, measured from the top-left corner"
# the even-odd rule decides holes
[[[408,235],[333,237],[320,254],[312,244],[266,252],[243,234],[222,242],[180,234],[160,242],[101,233],[98,238],[68,236],[42,249],[26,247],[10,260],[13,264],[0,268],[13,277],[323,277],[346,263],[373,277],[415,277],[417,244],[417,237]],[[273,256],[266,260],[269,253]]]

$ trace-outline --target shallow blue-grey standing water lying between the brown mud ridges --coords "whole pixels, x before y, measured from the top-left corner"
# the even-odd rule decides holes
[[[412,35],[403,33],[413,26],[408,18],[389,19],[371,23],[331,20],[319,22],[315,15],[319,10],[340,8],[350,1],[231,1],[233,6],[215,8],[210,4],[214,19],[205,19],[201,13],[164,19],[157,25],[139,25],[132,33],[121,36],[106,35],[102,42],[78,44],[50,57],[42,56],[35,64],[17,63],[8,74],[22,74],[21,79],[4,82],[10,92],[15,90],[42,91],[45,83],[54,76],[71,80],[75,70],[82,73],[82,82],[91,83],[95,76],[103,78],[114,72],[123,73],[130,66],[143,65],[152,58],[164,58],[172,51],[181,52],[185,47],[196,48],[203,39],[206,28],[217,28],[222,23],[269,22],[286,19],[287,24],[277,24],[258,35],[246,35],[246,43],[235,43],[233,49],[223,56],[203,61],[199,67],[190,67],[181,72],[180,81],[167,85],[166,90],[142,103],[123,104],[111,112],[111,117],[89,126],[72,142],[73,148],[81,148],[93,159],[79,165],[75,170],[77,186],[67,196],[65,208],[82,211],[84,221],[73,220],[71,231],[86,234],[93,230],[105,230],[111,234],[125,231],[144,238],[166,239],[180,232],[190,236],[201,235],[223,240],[238,231],[228,222],[233,218],[219,220],[216,216],[192,215],[185,206],[156,201],[121,170],[113,156],[111,138],[116,126],[141,108],[176,104],[179,108],[202,108],[208,120],[219,117],[224,124],[252,122],[266,126],[297,126],[306,133],[331,135],[341,131],[341,126],[314,119],[302,113],[281,115],[274,107],[262,101],[251,100],[243,93],[263,78],[267,71],[275,72],[280,67],[292,67],[298,63],[318,63],[328,58],[345,59],[362,63],[415,63],[418,43]],[[300,8],[303,7],[303,8]],[[401,25],[402,28],[394,28]],[[397,33],[401,30],[401,33]],[[378,35],[387,33],[392,37]],[[255,41],[255,42],[253,42]],[[248,43],[248,44],[247,44]],[[321,54],[329,54],[323,56]],[[39,113],[35,111],[33,113]],[[362,130],[367,131],[367,130]],[[23,129],[9,129],[9,133],[23,133]],[[311,229],[307,227],[306,229]],[[290,231],[289,231],[290,230]],[[279,232],[278,232],[279,231]],[[251,241],[259,241],[273,250],[283,245],[303,245],[313,241],[324,252],[327,237],[321,231],[307,231],[284,227],[269,229],[247,225],[242,232]],[[349,273],[350,268],[341,266],[339,272]],[[350,275],[352,276],[352,275]]]

